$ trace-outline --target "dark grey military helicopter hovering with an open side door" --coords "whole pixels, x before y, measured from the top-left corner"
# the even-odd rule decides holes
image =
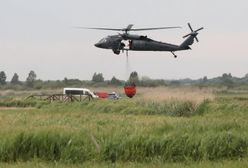
[[[118,35],[109,35],[103,39],[101,39],[98,43],[95,44],[96,47],[102,49],[112,49],[114,54],[119,55],[120,52],[126,51],[126,55],[128,56],[128,51],[168,51],[173,54],[175,58],[177,55],[176,51],[181,50],[190,50],[190,45],[194,43],[194,39],[199,42],[197,35],[198,31],[202,30],[203,27],[193,30],[190,23],[188,23],[188,27],[191,32],[183,38],[186,38],[180,45],[165,43],[153,40],[143,35],[130,34],[131,31],[147,31],[147,30],[160,30],[160,29],[174,29],[181,28],[179,26],[176,27],[155,27],[155,28],[140,28],[134,29],[133,24],[129,24],[126,28],[116,29],[116,28],[100,28],[100,27],[78,27],[82,29],[95,29],[95,30],[110,30],[110,31],[121,31],[123,33],[118,33]],[[128,41],[126,45],[124,41]]]

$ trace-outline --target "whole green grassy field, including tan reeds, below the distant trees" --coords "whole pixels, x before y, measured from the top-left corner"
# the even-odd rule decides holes
[[[248,92],[140,88],[133,99],[0,100],[0,167],[245,167]]]

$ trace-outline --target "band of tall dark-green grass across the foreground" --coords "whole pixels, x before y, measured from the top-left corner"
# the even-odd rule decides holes
[[[214,132],[202,135],[121,135],[97,141],[88,136],[56,132],[20,132],[2,139],[0,161],[46,161],[84,163],[87,161],[199,161],[247,156],[247,135]]]

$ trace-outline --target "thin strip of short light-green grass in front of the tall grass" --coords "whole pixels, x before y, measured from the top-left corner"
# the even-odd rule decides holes
[[[0,167],[8,168],[243,168],[248,164],[247,160],[223,160],[218,162],[183,162],[183,163],[163,163],[163,162],[150,162],[150,163],[137,163],[137,162],[117,162],[117,163],[106,163],[106,162],[86,162],[84,164],[66,164],[59,162],[44,162],[44,161],[28,161],[28,162],[17,162],[17,163],[0,163]]]

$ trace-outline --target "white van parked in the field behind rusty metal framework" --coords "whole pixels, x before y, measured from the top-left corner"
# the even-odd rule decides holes
[[[98,98],[93,92],[86,88],[64,88],[63,94],[75,95],[75,96],[91,96],[92,98]]]

